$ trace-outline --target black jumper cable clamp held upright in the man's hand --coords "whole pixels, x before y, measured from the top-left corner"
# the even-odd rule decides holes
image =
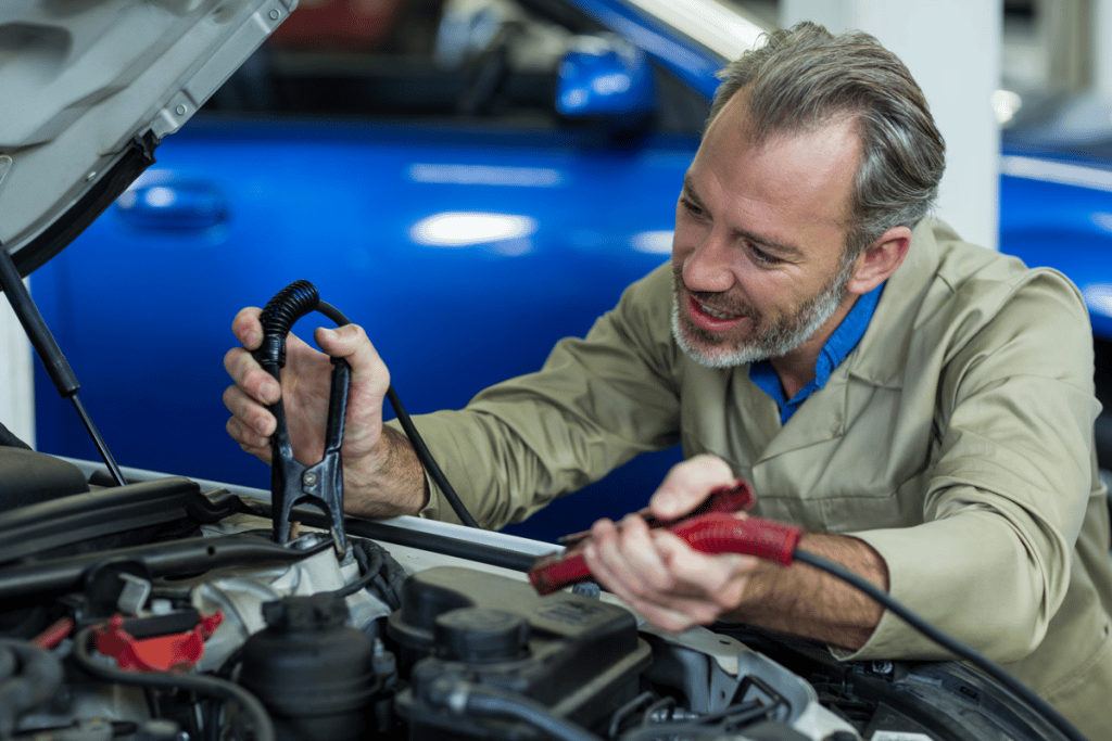
[[[279,291],[259,317],[262,343],[252,354],[279,383],[286,364],[286,336],[294,322],[317,309],[320,299],[312,283],[298,280]],[[268,407],[278,424],[270,435],[270,495],[274,540],[289,540],[289,514],[295,504],[307,502],[320,508],[331,521],[331,535],[337,554],[347,551],[344,531],[344,465],[340,445],[344,443],[344,420],[347,417],[351,367],[342,358],[332,358],[331,389],[328,397],[328,420],[325,427],[325,454],[319,463],[305,465],[294,458],[286,424],[286,408],[281,399]]]

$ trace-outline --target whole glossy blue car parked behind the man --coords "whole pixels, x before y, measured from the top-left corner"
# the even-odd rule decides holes
[[[224,432],[221,360],[236,311],[296,279],[367,329],[411,413],[538,368],[667,260],[714,72],[761,32],[716,3],[666,0],[357,7],[302,0],[36,272],[121,464],[269,487]],[[1022,170],[1051,156],[1012,157]],[[1070,274],[1112,338],[1112,281],[1093,257],[1112,196],[1022,171],[1002,194],[1002,248]],[[44,375],[36,387],[38,448],[96,458]],[[508,530],[553,539],[622,515],[677,460],[643,455]]]

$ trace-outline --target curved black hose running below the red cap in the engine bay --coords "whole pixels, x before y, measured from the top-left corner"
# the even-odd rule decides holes
[[[83,670],[118,684],[141,687],[143,689],[171,689],[196,692],[206,697],[230,700],[239,704],[250,715],[255,725],[255,741],[275,741],[275,727],[266,708],[258,698],[239,687],[216,677],[205,674],[186,674],[177,672],[131,672],[109,667],[96,661],[89,652],[92,628],[81,630],[73,639],[73,660]]]

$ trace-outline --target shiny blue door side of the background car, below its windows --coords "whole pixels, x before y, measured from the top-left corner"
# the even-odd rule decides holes
[[[268,474],[222,431],[221,359],[239,308],[308,279],[365,327],[408,411],[460,407],[537,369],[667,259],[675,183],[696,144],[661,136],[613,151],[518,131],[196,123],[33,290],[121,463],[245,485]],[[169,206],[182,191],[200,218],[137,216],[135,201]],[[320,324],[306,318],[297,331]],[[37,387],[39,449],[95,457],[44,375]]]

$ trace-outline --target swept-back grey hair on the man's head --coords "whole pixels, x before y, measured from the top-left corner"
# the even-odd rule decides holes
[[[838,116],[856,121],[854,178],[843,260],[852,261],[892,227],[913,227],[931,210],[945,168],[945,143],[926,98],[900,59],[867,33],[832,36],[804,21],[765,34],[718,73],[711,119],[742,88],[754,143],[813,130]]]

